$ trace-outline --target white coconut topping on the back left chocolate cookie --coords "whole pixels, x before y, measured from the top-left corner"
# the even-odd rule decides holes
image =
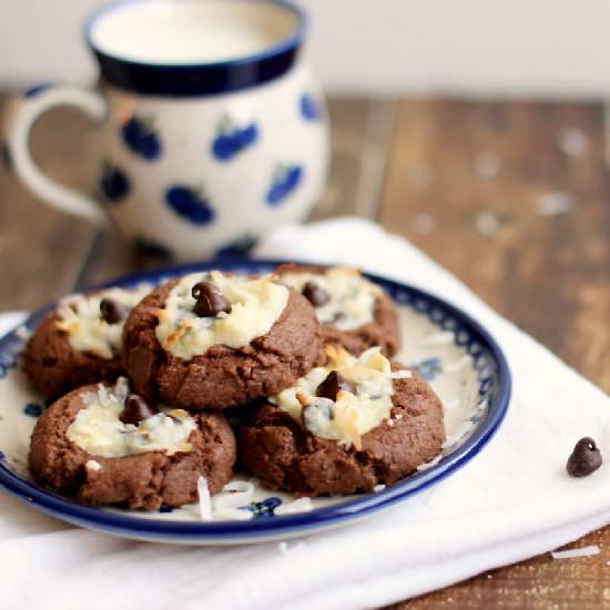
[[[128,312],[152,289],[150,284],[135,288],[108,288],[92,294],[73,294],[60,301],[57,326],[68,334],[70,345],[80,352],[91,352],[100,358],[114,358],[121,350],[124,319],[105,322],[100,313],[104,298],[120,303]]]

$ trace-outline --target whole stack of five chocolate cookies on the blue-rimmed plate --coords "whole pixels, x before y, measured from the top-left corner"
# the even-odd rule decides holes
[[[390,362],[398,314],[353,270],[220,271],[72,295],[26,350],[54,403],[29,465],[89,505],[156,509],[218,492],[241,466],[299,496],[392,485],[445,438],[429,386]],[[247,415],[228,424],[226,409]],[[246,408],[242,408],[246,407]]]

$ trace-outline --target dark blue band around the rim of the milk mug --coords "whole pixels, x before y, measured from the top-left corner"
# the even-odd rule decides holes
[[[102,51],[93,41],[95,23],[110,12],[146,0],[116,0],[94,11],[84,23],[84,39],[100,63],[102,81],[120,89],[148,95],[217,95],[258,87],[284,75],[295,64],[307,31],[305,12],[286,0],[224,0],[225,2],[268,4],[296,17],[296,29],[285,40],[264,51],[236,59],[199,63],[154,63],[128,59]]]

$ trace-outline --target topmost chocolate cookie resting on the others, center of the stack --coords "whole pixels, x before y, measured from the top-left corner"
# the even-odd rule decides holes
[[[195,273],[133,309],[123,362],[135,392],[185,409],[222,409],[277,394],[321,357],[308,301],[272,277]]]

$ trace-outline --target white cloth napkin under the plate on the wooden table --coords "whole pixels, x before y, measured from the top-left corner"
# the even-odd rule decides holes
[[[421,252],[357,218],[272,232],[257,256],[343,263],[434,292],[499,340],[514,374],[490,445],[436,487],[362,523],[287,545],[187,548],[69,528],[0,495],[0,608],[374,608],[575,540],[610,521],[610,400]],[[566,475],[576,440],[608,456]]]

